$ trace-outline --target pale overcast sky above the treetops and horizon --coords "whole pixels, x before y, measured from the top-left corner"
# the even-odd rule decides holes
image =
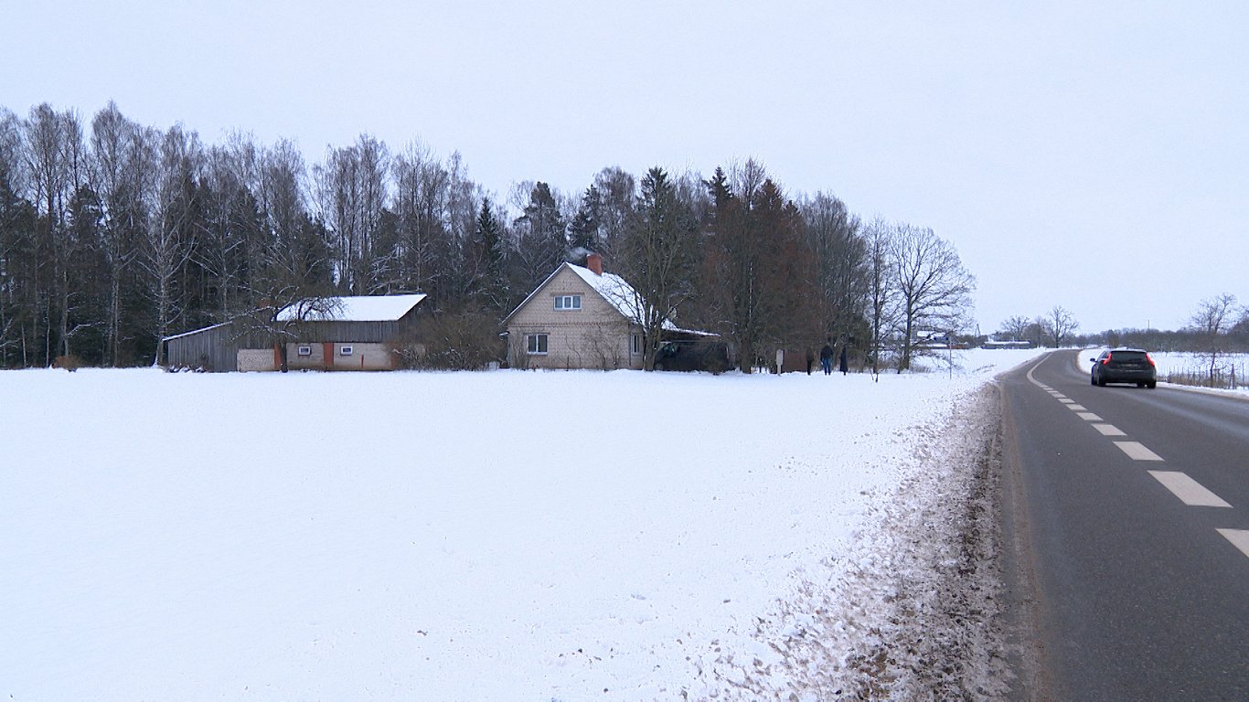
[[[1249,2],[69,1],[0,9],[0,106],[367,132],[506,196],[753,157],[789,195],[932,227],[988,334],[1249,304]]]

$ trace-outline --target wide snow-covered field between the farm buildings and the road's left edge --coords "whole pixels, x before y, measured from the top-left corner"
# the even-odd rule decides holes
[[[0,700],[992,696],[942,583],[978,582],[985,383],[1038,353],[0,372]]]

